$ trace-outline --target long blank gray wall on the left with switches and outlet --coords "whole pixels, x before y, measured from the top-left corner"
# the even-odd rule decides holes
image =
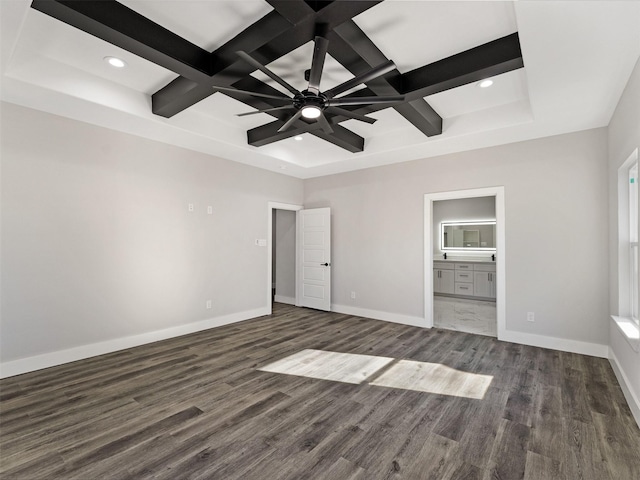
[[[3,362],[267,307],[301,180],[6,103],[0,153]]]

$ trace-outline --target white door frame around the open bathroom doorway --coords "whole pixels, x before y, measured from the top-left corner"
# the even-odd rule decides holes
[[[426,193],[424,195],[424,319],[427,328],[433,327],[433,202],[461,198],[496,198],[496,315],[498,340],[506,331],[506,226],[504,186]]]

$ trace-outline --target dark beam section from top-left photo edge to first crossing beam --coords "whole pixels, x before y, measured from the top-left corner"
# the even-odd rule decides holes
[[[115,0],[34,0],[31,6],[193,80],[211,75],[209,52]]]

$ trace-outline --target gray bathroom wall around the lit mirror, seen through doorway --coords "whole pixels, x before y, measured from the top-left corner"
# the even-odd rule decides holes
[[[496,219],[496,197],[460,198],[456,200],[439,200],[433,202],[433,251],[434,258],[442,256],[440,249],[440,224],[442,222],[469,222]],[[490,242],[495,239],[487,238]],[[450,256],[460,255],[459,252],[449,252]],[[478,255],[476,252],[475,255]],[[481,253],[480,256],[491,256]]]

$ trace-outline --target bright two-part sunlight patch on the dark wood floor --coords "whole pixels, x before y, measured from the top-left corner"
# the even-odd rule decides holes
[[[439,363],[307,349],[259,368],[321,380],[482,399],[493,376],[463,372]]]

